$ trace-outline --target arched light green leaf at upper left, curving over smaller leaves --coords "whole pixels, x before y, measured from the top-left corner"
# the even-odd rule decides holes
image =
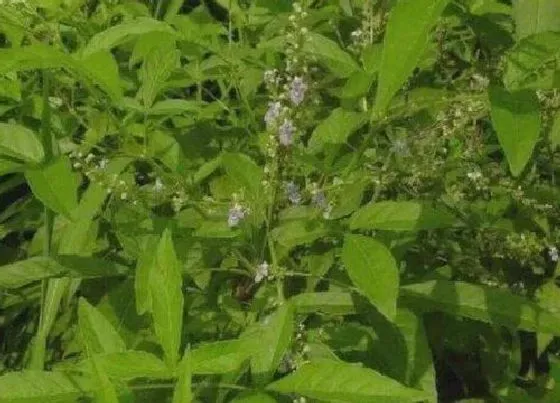
[[[119,25],[115,25],[94,35],[82,49],[83,56],[92,55],[99,51],[107,51],[119,46],[138,35],[163,32],[175,34],[171,26],[153,18],[137,18]]]

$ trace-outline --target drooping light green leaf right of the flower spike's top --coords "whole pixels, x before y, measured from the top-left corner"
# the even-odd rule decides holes
[[[360,69],[352,56],[343,51],[336,42],[321,34],[309,32],[303,50],[316,56],[319,62],[325,64],[337,77],[349,77]]]

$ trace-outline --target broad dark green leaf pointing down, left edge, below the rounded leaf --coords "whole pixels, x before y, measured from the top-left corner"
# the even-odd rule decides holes
[[[45,206],[71,218],[78,205],[78,182],[70,160],[59,157],[54,162],[25,171],[31,191]]]

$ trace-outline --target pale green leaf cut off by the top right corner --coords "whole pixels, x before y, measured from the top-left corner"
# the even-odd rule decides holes
[[[518,39],[545,31],[560,31],[560,2],[515,0],[513,16]]]

